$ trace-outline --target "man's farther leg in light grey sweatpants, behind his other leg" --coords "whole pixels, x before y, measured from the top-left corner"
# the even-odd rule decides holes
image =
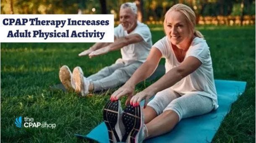
[[[99,70],[99,72],[90,75],[88,78],[86,78],[87,80],[90,81],[96,81],[96,80],[100,80],[102,78],[105,78],[109,75],[111,75],[112,73],[114,73],[114,71],[118,68],[123,68],[125,66],[124,63],[114,63],[110,66],[107,66],[105,68],[102,68],[101,70]]]

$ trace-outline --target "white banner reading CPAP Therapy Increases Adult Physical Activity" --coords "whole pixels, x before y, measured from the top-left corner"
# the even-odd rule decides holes
[[[113,42],[114,39],[113,15],[4,15],[1,31],[2,28],[5,33],[1,37],[4,34],[12,42]]]

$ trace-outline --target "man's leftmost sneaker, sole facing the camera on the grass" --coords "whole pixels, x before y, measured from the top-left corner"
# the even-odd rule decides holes
[[[72,73],[71,73],[70,69],[68,68],[68,66],[63,65],[60,68],[59,78],[66,90],[72,91],[75,89],[75,86],[74,85],[72,86],[72,83],[71,83]]]

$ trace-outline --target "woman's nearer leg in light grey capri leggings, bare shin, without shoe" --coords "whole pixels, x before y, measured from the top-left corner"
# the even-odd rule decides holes
[[[182,118],[202,115],[213,108],[212,99],[193,93],[185,94],[173,100],[162,114],[146,124],[148,138],[169,132]]]

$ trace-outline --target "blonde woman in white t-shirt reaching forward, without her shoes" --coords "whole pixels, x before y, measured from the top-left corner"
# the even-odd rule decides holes
[[[166,36],[152,46],[146,62],[125,85],[111,95],[111,101],[128,95],[127,102],[133,107],[145,99],[144,125],[140,127],[144,130],[139,133],[139,141],[169,132],[182,118],[218,108],[209,47],[195,30],[195,20],[195,13],[188,6],[172,6],[165,14]],[[154,72],[162,57],[166,59],[165,75],[132,96],[135,85]]]

